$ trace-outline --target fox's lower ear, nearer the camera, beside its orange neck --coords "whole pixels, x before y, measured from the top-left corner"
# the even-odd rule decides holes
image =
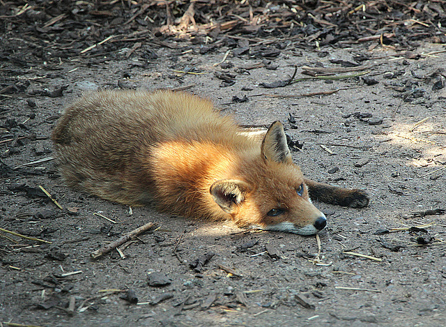
[[[245,195],[249,190],[249,184],[244,181],[238,181],[237,179],[222,179],[213,183],[213,185],[210,186],[209,191],[215,203],[217,203],[225,213],[233,213],[236,211],[237,206],[243,202]]]

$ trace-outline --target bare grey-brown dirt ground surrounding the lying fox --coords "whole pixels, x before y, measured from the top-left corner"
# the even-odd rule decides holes
[[[79,53],[97,44],[86,39],[73,55],[36,47],[25,22],[8,24],[0,227],[51,243],[0,231],[0,326],[446,326],[444,44],[163,36]],[[301,80],[311,68],[336,68],[337,79]],[[275,82],[282,87],[265,87]],[[185,89],[243,125],[280,120],[302,144],[293,159],[306,176],[367,190],[371,204],[316,202],[328,217],[318,250],[314,236],[74,192],[51,160],[49,135],[64,106],[98,88]],[[124,257],[91,259],[147,222],[156,226]]]

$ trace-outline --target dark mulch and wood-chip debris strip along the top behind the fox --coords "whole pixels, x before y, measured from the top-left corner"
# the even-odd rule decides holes
[[[236,56],[270,60],[291,44],[296,51],[355,43],[414,50],[420,40],[446,43],[445,7],[443,1],[6,1],[0,6],[0,59],[12,66],[0,94],[26,90],[29,81],[19,78],[24,71],[13,67],[28,70],[36,61],[77,56],[92,64],[105,55],[153,60],[154,47],[184,51],[181,40],[201,54],[225,45]],[[355,67],[364,56],[333,60]],[[443,79],[438,83],[443,86]],[[61,96],[64,88],[36,96]]]

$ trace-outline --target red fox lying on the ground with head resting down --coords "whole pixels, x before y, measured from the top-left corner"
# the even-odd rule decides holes
[[[90,93],[66,108],[52,139],[68,186],[121,204],[301,235],[327,224],[310,197],[369,204],[363,190],[304,178],[279,121],[252,136],[189,93]]]

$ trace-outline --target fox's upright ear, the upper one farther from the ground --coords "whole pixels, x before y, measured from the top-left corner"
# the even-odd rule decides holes
[[[286,144],[286,135],[284,126],[280,121],[275,121],[268,128],[265,138],[263,138],[261,153],[263,158],[275,162],[293,162],[288,144]]]

